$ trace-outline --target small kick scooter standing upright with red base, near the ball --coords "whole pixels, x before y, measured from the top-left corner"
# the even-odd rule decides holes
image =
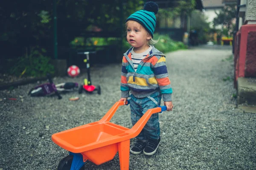
[[[78,93],[81,94],[83,90],[85,90],[85,92],[93,92],[96,90],[100,95],[101,94],[100,86],[97,86],[97,88],[93,86],[90,79],[90,58],[89,58],[90,53],[96,53],[96,52],[78,52],[77,53],[78,55],[86,55],[86,58],[84,59],[84,63],[86,63],[87,78],[88,78],[88,79],[84,78],[84,85],[81,85],[79,87]]]

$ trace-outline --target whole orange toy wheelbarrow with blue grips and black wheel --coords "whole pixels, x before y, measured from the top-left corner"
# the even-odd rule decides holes
[[[127,101],[128,105],[130,102]],[[152,114],[166,110],[166,106],[148,109],[131,128],[110,122],[123,101],[116,102],[99,121],[65,130],[52,135],[52,141],[70,151],[58,164],[58,170],[80,170],[85,161],[103,164],[119,153],[120,169],[129,170],[130,139],[140,134]]]

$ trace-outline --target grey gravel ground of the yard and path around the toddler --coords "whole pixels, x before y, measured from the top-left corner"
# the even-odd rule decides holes
[[[130,155],[130,170],[256,169],[256,114],[236,108],[230,55],[230,49],[209,48],[167,54],[174,109],[160,115],[162,141],[157,153]],[[27,96],[30,88],[43,82],[0,91],[0,170],[55,170],[68,151],[54,144],[51,135],[102,118],[119,100],[120,69],[121,64],[91,69],[93,84],[101,86],[102,95],[70,92],[61,100]],[[54,82],[82,83],[85,77],[58,77]],[[68,100],[76,95],[78,101]],[[129,116],[129,107],[123,106],[111,122],[131,128]],[[105,164],[85,166],[119,169],[118,155]]]

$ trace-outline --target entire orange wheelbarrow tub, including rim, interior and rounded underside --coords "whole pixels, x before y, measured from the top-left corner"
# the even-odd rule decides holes
[[[126,127],[111,122],[93,122],[52,135],[52,141],[72,153],[81,153],[84,160],[103,164],[114,158],[118,143],[129,140]]]

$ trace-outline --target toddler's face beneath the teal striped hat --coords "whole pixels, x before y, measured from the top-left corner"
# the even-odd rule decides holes
[[[151,39],[151,35],[147,34],[145,28],[140,23],[130,20],[127,23],[126,39],[134,48],[140,48],[147,46],[147,42]]]

